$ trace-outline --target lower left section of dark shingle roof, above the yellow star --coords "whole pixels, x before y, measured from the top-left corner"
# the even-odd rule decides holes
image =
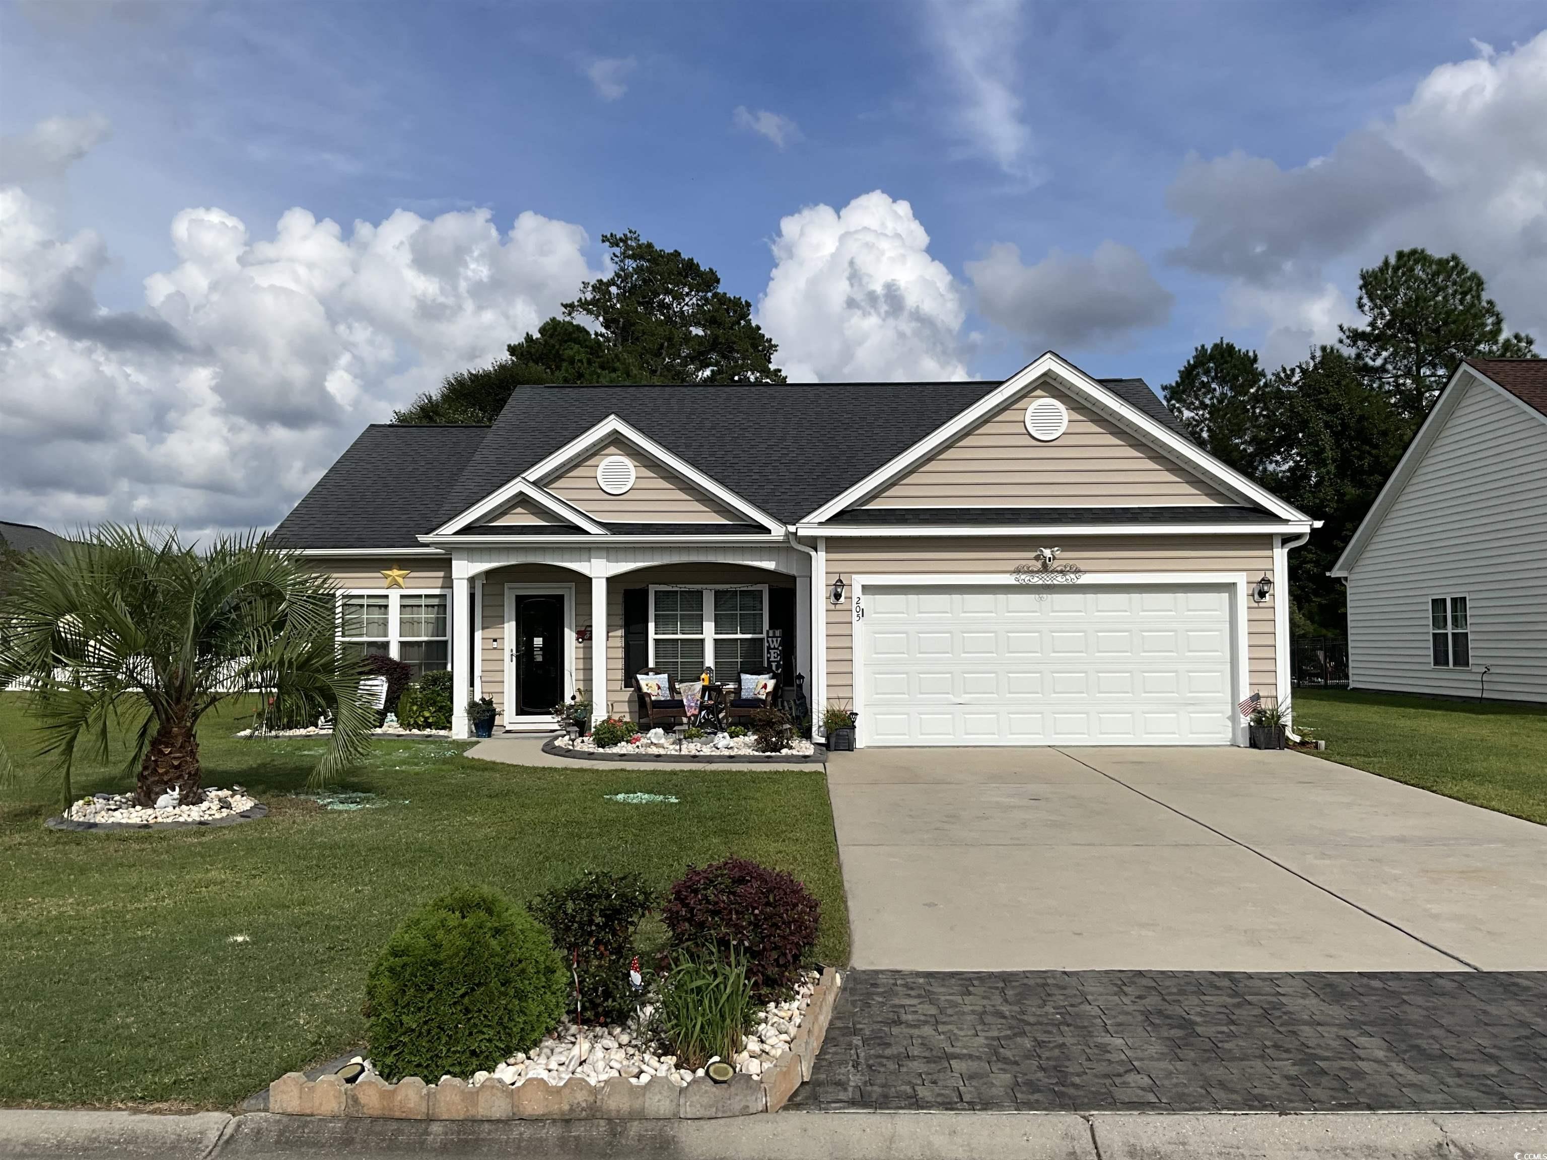
[[[282,548],[415,548],[487,427],[371,424],[274,529]]]

